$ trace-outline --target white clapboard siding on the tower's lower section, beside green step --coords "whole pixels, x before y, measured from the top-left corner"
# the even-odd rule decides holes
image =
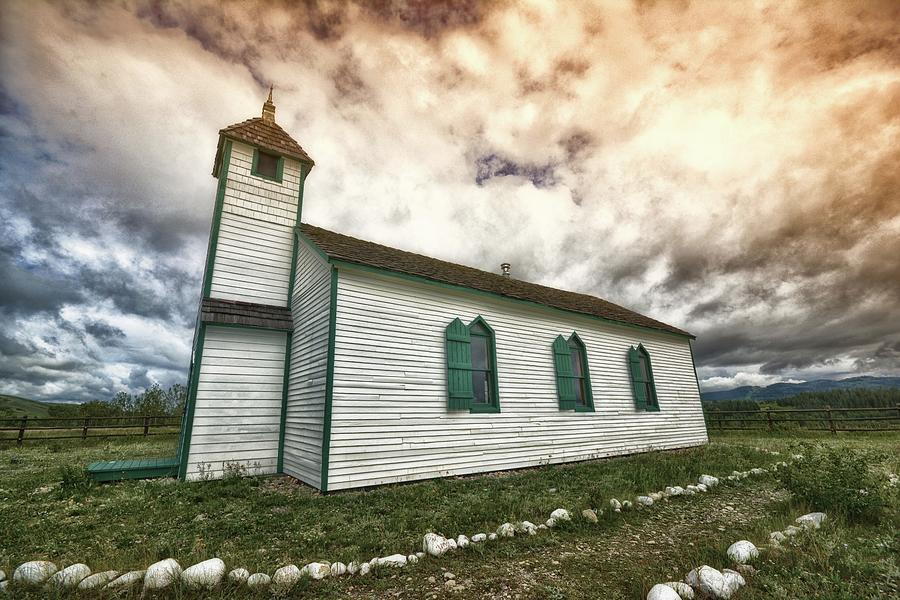
[[[226,465],[274,473],[284,379],[282,331],[207,326],[187,477],[221,477]]]

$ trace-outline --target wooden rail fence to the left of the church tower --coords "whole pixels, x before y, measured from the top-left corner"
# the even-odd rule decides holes
[[[181,417],[163,415],[0,418],[0,442],[15,441],[18,446],[30,441],[174,435],[180,430]]]

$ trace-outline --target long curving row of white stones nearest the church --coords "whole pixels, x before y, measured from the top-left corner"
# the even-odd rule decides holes
[[[777,452],[760,450],[770,454],[777,454]],[[795,458],[799,458],[799,456],[795,456]],[[776,463],[772,469],[777,469],[779,464],[786,465],[787,463]],[[736,482],[751,475],[763,475],[769,472],[768,469],[734,471],[727,476],[727,479]],[[616,498],[612,498],[609,504],[611,510],[618,513],[630,509],[635,503],[638,508],[649,507],[663,499],[676,496],[692,496],[706,492],[718,484],[718,477],[701,475],[696,484],[689,484],[685,487],[666,487],[658,492],[637,496],[634,503],[629,500],[619,502]],[[582,511],[582,516],[591,522],[597,522],[598,514],[602,515],[603,510],[585,509]],[[368,562],[362,563],[359,561],[353,561],[349,564],[341,562],[312,562],[303,568],[296,565],[286,565],[277,569],[271,577],[266,573],[251,574],[244,568],[233,569],[226,576],[225,563],[220,558],[211,558],[187,569],[182,569],[175,559],[167,558],[153,563],[144,570],[127,571],[125,573],[119,571],[91,573],[91,569],[83,563],[73,564],[59,570],[50,561],[36,560],[19,565],[13,573],[12,579],[17,585],[25,587],[48,585],[80,590],[117,590],[143,583],[145,592],[154,592],[168,588],[177,581],[181,581],[182,584],[192,589],[212,589],[220,585],[227,577],[227,580],[231,583],[247,585],[251,588],[272,586],[278,590],[289,590],[303,577],[318,580],[341,575],[368,575],[372,569],[377,567],[404,567],[408,564],[416,563],[424,558],[426,554],[441,556],[457,548],[467,548],[470,544],[513,537],[516,533],[535,535],[541,530],[556,526],[561,521],[571,521],[571,519],[572,516],[568,510],[558,508],[550,513],[550,517],[546,522],[540,525],[535,525],[530,521],[521,521],[516,524],[507,522],[500,525],[493,533],[477,533],[471,537],[459,535],[456,538],[445,538],[437,533],[427,533],[422,540],[422,551],[415,554],[392,554],[390,556],[373,558]],[[6,580],[6,574],[0,570],[0,592],[5,591],[8,585],[9,581]]]

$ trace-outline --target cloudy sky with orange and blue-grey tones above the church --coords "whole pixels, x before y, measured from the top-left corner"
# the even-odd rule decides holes
[[[307,222],[687,329],[704,389],[900,373],[894,0],[0,11],[0,393],[184,382],[270,82]]]

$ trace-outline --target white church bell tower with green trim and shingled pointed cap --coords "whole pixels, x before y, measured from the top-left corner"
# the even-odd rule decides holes
[[[275,121],[219,131],[219,181],[178,449],[181,479],[282,470],[303,186],[313,161]]]

